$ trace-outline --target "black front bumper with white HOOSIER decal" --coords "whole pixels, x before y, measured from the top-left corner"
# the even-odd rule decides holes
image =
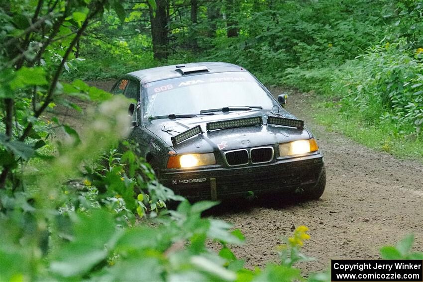
[[[313,188],[323,169],[320,152],[272,163],[236,168],[207,167],[190,170],[162,170],[159,181],[176,194],[192,199],[228,197]]]

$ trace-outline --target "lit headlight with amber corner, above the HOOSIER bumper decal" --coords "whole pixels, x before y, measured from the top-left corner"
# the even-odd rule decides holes
[[[213,153],[186,154],[170,156],[167,162],[168,169],[192,168],[216,164]]]

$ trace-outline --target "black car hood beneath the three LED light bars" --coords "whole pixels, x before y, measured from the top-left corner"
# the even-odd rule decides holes
[[[286,111],[281,113],[284,117],[295,118]],[[309,133],[306,128],[298,129],[272,124],[218,129],[213,131],[206,130],[207,122],[260,115],[263,117],[263,121],[265,122],[268,114],[268,110],[252,110],[248,112],[230,112],[175,120],[156,119],[151,120],[150,124],[148,124],[146,128],[157,135],[157,137],[162,139],[170,147],[173,147],[171,141],[172,136],[182,133],[194,126],[200,125],[203,129],[203,134],[191,137],[173,147],[178,154],[192,152],[205,153],[219,150],[225,151],[311,138],[311,133]]]

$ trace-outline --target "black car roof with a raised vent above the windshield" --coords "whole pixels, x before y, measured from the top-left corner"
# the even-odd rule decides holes
[[[202,62],[202,63],[189,63],[189,64],[178,64],[170,65],[165,67],[157,67],[145,70],[139,70],[135,72],[128,73],[127,75],[137,77],[141,80],[141,83],[148,83],[158,80],[177,78],[182,76],[187,76],[188,74],[183,74],[183,71],[177,71],[178,69],[195,69],[206,67],[208,73],[221,73],[221,72],[234,72],[234,71],[243,71],[244,69],[240,66],[222,63],[222,62]],[[201,74],[205,72],[194,72],[194,74]]]

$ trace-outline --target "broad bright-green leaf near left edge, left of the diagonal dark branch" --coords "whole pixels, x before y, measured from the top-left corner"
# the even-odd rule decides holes
[[[22,67],[15,73],[15,78],[10,82],[10,88],[16,90],[26,86],[46,85],[45,71],[41,67]]]

